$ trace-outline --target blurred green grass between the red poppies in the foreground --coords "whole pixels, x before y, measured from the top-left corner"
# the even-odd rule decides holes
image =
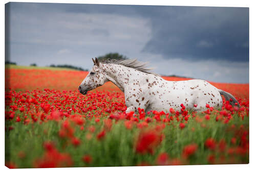
[[[141,155],[136,153],[134,149],[135,139],[140,130],[136,126],[132,130],[127,130],[123,120],[118,122],[113,120],[111,131],[107,132],[104,139],[100,141],[97,140],[96,135],[104,126],[103,118],[100,118],[99,123],[95,123],[94,119],[92,119],[87,120],[83,125],[84,129],[87,129],[89,126],[95,126],[96,128],[90,140],[86,138],[86,135],[90,133],[88,130],[81,131],[79,126],[74,126],[75,136],[81,141],[78,147],[74,147],[69,142],[69,139],[63,139],[58,136],[62,121],[55,122],[50,120],[41,125],[33,123],[25,126],[22,122],[15,123],[12,120],[7,123],[7,127],[12,126],[14,129],[5,133],[6,149],[8,151],[6,152],[6,160],[15,162],[20,168],[32,167],[35,158],[40,158],[44,153],[44,148],[42,147],[44,141],[53,141],[61,153],[69,153],[71,155],[74,161],[73,167],[86,165],[81,160],[85,154],[89,154],[93,158],[93,162],[89,166],[134,166],[141,162],[157,165],[156,159],[159,153],[165,152],[170,158],[183,159],[182,150],[185,145],[196,143],[198,150],[193,157],[187,160],[187,164],[208,164],[208,155],[212,153],[218,155],[220,153],[212,152],[205,148],[205,140],[209,137],[215,138],[216,141],[225,139],[226,147],[232,147],[230,141],[235,132],[228,132],[228,128],[232,124],[240,127],[247,121],[248,117],[242,120],[240,117],[234,116],[230,123],[223,124],[216,122],[215,116],[211,115],[210,120],[203,121],[207,125],[205,128],[202,128],[201,124],[197,123],[195,119],[189,119],[186,127],[181,130],[178,128],[179,122],[174,120],[174,126],[166,124],[163,130],[165,137],[161,144],[155,148],[154,154]],[[155,126],[155,124],[157,123],[154,120],[154,122],[148,125]],[[192,128],[195,128],[194,132],[191,131]],[[67,145],[65,145],[66,142],[68,142]],[[26,153],[24,159],[18,157],[17,153],[20,151]],[[228,159],[227,153],[224,153],[224,156]],[[248,157],[238,155],[236,159],[237,162],[234,163],[248,163]]]

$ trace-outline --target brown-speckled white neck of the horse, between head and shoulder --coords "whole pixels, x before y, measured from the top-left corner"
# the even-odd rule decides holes
[[[123,92],[127,85],[136,81],[139,83],[143,74],[134,68],[125,67],[118,64],[102,64],[102,68],[109,81],[118,86]]]

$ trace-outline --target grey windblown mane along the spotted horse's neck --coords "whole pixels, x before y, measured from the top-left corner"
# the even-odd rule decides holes
[[[137,59],[119,59],[119,60],[105,59],[100,61],[100,63],[120,64],[126,67],[134,68],[136,70],[145,72],[147,74],[153,74],[155,76],[160,77],[160,75],[151,72],[151,70],[153,70],[154,68],[148,68],[147,62],[141,62],[141,61],[138,61]]]

